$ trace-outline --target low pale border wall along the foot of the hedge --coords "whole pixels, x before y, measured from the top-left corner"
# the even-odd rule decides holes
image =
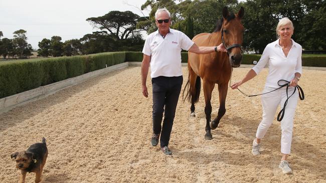
[[[68,78],[48,85],[40,86],[35,89],[31,89],[11,96],[0,98],[0,114],[7,112],[17,106],[24,105],[28,102],[35,101],[37,99],[41,99],[48,95],[54,94],[55,92],[61,89],[70,87],[72,85],[76,85],[92,77],[96,77],[114,70],[123,69],[128,66],[140,66],[140,65],[141,65],[141,61],[123,62],[106,68],[88,72],[83,75]],[[188,63],[182,63],[182,66],[187,66],[187,65]],[[240,67],[253,67],[253,65],[241,64]],[[302,68],[309,69],[309,70],[326,70],[326,67],[302,66]]]

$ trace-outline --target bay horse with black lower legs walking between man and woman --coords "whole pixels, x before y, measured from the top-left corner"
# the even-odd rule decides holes
[[[237,14],[229,13],[227,7],[223,8],[223,17],[218,20],[216,29],[212,33],[200,33],[192,40],[198,46],[214,46],[223,43],[227,52],[213,52],[209,54],[196,54],[188,52],[188,86],[186,98],[191,101],[191,116],[195,117],[195,103],[199,100],[201,78],[205,96],[206,134],[205,139],[212,139],[211,129],[215,129],[225,114],[225,99],[228,92],[228,83],[232,67],[240,66],[242,60],[242,39],[244,27],[241,18],[244,15],[243,7]],[[211,97],[215,83],[218,84],[220,108],[217,117],[211,120]],[[184,97],[184,100],[186,99]]]

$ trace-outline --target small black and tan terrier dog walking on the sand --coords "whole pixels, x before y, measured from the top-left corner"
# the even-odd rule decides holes
[[[48,157],[45,138],[42,138],[42,143],[34,143],[26,151],[12,153],[11,157],[16,159],[16,167],[22,171],[21,183],[25,182],[27,172],[35,172],[35,182],[40,182],[43,167]]]

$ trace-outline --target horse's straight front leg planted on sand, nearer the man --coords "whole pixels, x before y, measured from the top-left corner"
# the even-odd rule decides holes
[[[213,139],[210,122],[211,122],[211,113],[212,113],[211,98],[212,98],[212,91],[214,89],[214,85],[215,83],[210,83],[205,80],[203,81],[204,96],[205,96],[205,115],[206,115],[206,126],[205,126],[206,140]]]

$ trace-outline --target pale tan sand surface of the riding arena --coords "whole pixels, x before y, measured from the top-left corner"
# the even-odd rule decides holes
[[[250,68],[235,68],[232,82]],[[184,85],[188,79],[183,67]],[[260,93],[267,69],[241,86]],[[283,174],[280,161],[280,123],[262,140],[260,156],[251,154],[261,120],[260,97],[245,97],[229,89],[226,114],[205,140],[204,96],[190,118],[190,103],[177,107],[171,134],[172,156],[150,145],[149,97],[141,93],[140,67],[113,71],[66,88],[46,98],[0,114],[0,182],[18,182],[20,171],[10,158],[44,136],[49,155],[42,182],[326,182],[326,71],[303,70],[299,85],[292,154],[294,173]],[[184,88],[184,86],[183,86]],[[212,97],[212,118],[218,111],[218,90]],[[279,109],[277,110],[277,112]],[[35,173],[27,174],[34,182]]]

